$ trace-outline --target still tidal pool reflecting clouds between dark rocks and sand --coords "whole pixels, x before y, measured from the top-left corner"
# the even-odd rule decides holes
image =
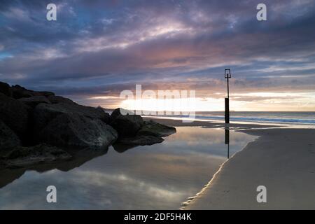
[[[162,144],[85,152],[59,165],[0,171],[0,209],[179,209],[227,160],[255,137],[176,127]],[[46,188],[57,188],[57,203]]]

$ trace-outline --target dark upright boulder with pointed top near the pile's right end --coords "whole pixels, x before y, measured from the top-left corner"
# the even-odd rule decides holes
[[[139,115],[123,115],[118,108],[111,113],[110,125],[115,128],[120,138],[134,137],[144,125],[144,120]]]

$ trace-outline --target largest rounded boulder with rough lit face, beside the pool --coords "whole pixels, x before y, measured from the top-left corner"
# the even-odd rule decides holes
[[[78,113],[57,116],[37,134],[39,142],[57,146],[108,147],[117,137],[116,130],[102,120]]]

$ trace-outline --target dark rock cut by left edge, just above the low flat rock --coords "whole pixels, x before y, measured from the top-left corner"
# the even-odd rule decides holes
[[[0,120],[0,150],[20,146],[20,139]]]

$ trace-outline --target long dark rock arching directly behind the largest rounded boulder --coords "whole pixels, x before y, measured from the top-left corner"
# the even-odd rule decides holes
[[[90,106],[80,106],[78,104],[38,104],[33,113],[34,117],[34,128],[40,131],[48,125],[48,123],[59,115],[73,115],[78,114],[86,118],[96,118],[108,123],[109,114],[95,109]]]

